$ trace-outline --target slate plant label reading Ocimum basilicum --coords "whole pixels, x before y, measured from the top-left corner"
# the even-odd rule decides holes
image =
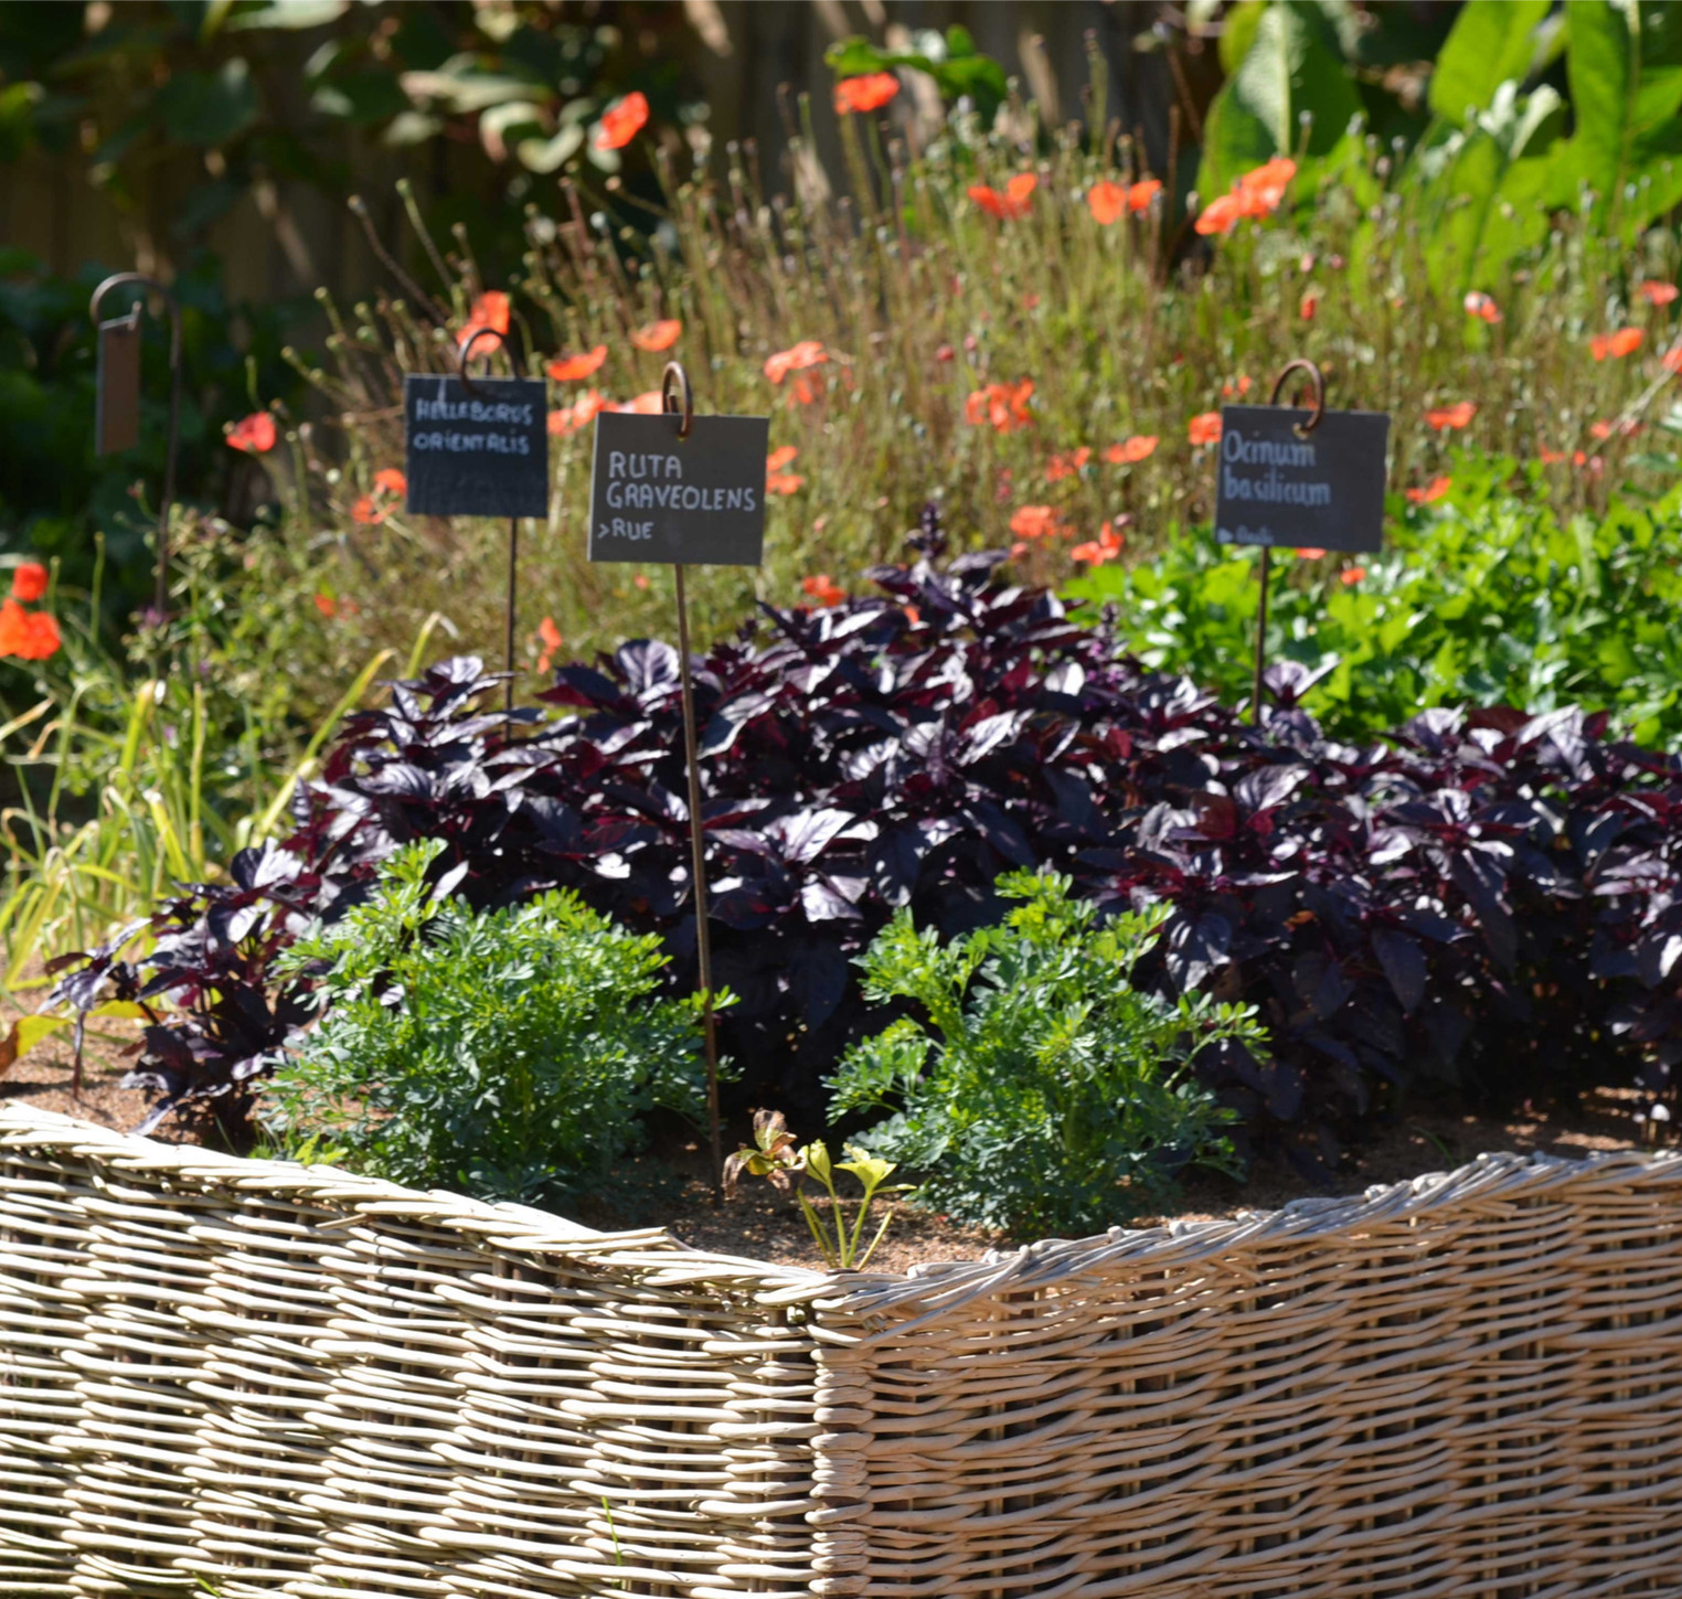
[[[1384,531],[1389,417],[1327,410],[1221,407],[1214,536],[1223,545],[1300,545],[1376,555]]]

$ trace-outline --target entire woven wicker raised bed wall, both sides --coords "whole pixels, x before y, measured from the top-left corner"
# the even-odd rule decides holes
[[[0,1110],[0,1594],[1682,1594],[1682,1158],[826,1278]]]

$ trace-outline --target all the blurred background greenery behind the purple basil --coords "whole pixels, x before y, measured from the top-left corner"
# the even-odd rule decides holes
[[[873,71],[895,98],[838,114],[836,77]],[[632,92],[646,128],[597,148]],[[669,318],[705,404],[774,410],[794,454],[767,565],[698,577],[703,637],[755,599],[858,583],[934,496],[960,545],[1014,543],[1036,582],[1071,580],[1108,528],[1093,597],[1162,664],[1236,683],[1250,568],[1208,543],[1187,422],[1300,351],[1334,404],[1394,412],[1413,518],[1364,587],[1292,570],[1278,647],[1367,664],[1324,678],[1325,713],[1366,725],[1515,683],[1682,736],[1662,625],[1628,659],[1596,642],[1672,588],[1675,504],[1642,508],[1675,476],[1660,356],[1682,308],[1640,291],[1682,276],[1653,225],[1682,195],[1679,111],[1682,7],[1652,0],[0,0],[0,565],[47,557],[66,624],[52,661],[0,666],[13,972],[272,831],[375,673],[451,647],[500,662],[506,526],[370,498],[402,461],[400,373],[446,365],[488,289],[511,294],[526,370],[604,350],[557,407],[656,387],[666,355],[632,335]],[[1280,155],[1288,203],[1196,232]],[[1029,173],[1019,217],[971,198]],[[1145,175],[1161,195],[1100,222],[1093,187]],[[128,624],[150,592],[163,323],[143,323],[141,442],[91,444],[87,294],[118,269],[185,309],[163,627]],[[1468,316],[1467,291],[1499,319]],[[1633,358],[1591,356],[1620,326]],[[765,365],[799,341],[826,353],[804,402]],[[969,417],[1024,382],[1023,425]],[[1465,430],[1426,424],[1462,404]],[[267,407],[274,451],[224,446]],[[521,567],[526,668],[671,624],[669,572],[582,560],[589,432],[557,432]],[[1108,454],[1144,435],[1147,454]],[[1438,476],[1436,509],[1399,509]],[[1551,508],[1509,515],[1512,496]],[[1620,555],[1632,526],[1640,558]],[[1443,551],[1489,528],[1517,530],[1514,558],[1455,609]],[[1537,609],[1579,568],[1593,605]]]

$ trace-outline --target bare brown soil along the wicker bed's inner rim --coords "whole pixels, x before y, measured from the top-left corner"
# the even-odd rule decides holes
[[[0,1022],[10,1027],[13,1016],[15,1007],[7,1005]],[[27,1100],[44,1110],[82,1116],[101,1127],[133,1128],[146,1113],[146,1095],[119,1086],[126,1066],[118,1051],[131,1037],[130,1024],[106,1022],[101,1034],[89,1039],[79,1101],[71,1095],[69,1034],[49,1039],[0,1076],[0,1103]],[[1452,1170],[1485,1152],[1544,1150],[1581,1157],[1593,1150],[1642,1148],[1645,1135],[1643,1123],[1635,1118],[1637,1105],[1633,1090],[1603,1088],[1579,1106],[1526,1105],[1522,1113],[1509,1118],[1475,1116],[1450,1105],[1418,1106],[1374,1143],[1347,1155],[1332,1192],[1359,1194],[1373,1184]],[[745,1135],[747,1130],[740,1132]],[[165,1123],[156,1137],[178,1142],[185,1132]],[[1288,1165],[1258,1162],[1241,1184],[1218,1175],[1194,1175],[1182,1185],[1177,1211],[1171,1216],[1140,1217],[1137,1224],[1208,1221],[1240,1211],[1270,1211],[1292,1199],[1324,1192],[1327,1190],[1307,1182]],[[893,1226],[871,1259],[871,1269],[905,1271],[923,1261],[972,1259],[987,1249],[1011,1246],[1002,1236],[962,1227],[944,1217],[925,1216],[905,1206],[897,1206],[895,1211]],[[696,1249],[822,1268],[822,1258],[799,1209],[769,1184],[747,1179],[733,1201],[715,1207],[705,1157],[696,1143],[629,1162],[621,1189],[611,1199],[580,1206],[579,1221],[609,1229],[661,1221]]]

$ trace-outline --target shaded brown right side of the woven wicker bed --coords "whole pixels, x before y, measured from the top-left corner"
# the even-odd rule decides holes
[[[838,1591],[1682,1594],[1682,1158],[1485,1157],[819,1308],[870,1394],[821,1468],[868,1550]]]

